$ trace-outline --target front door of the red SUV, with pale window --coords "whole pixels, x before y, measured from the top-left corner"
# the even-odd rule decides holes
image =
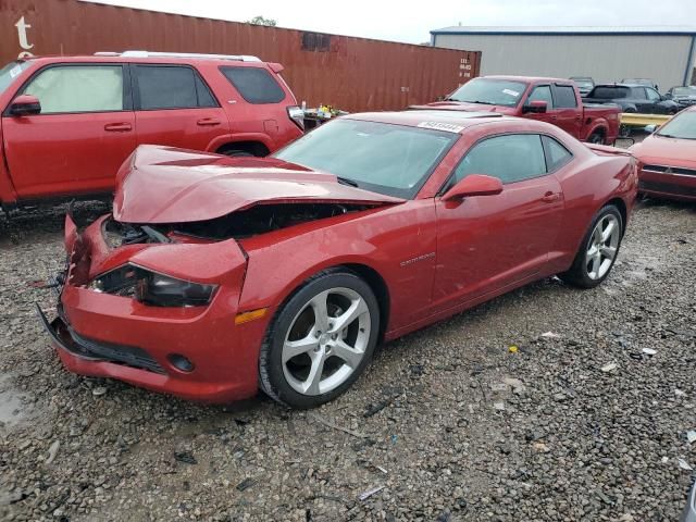
[[[135,148],[135,116],[121,64],[49,65],[17,95],[33,95],[41,112],[2,117],[10,175],[23,199],[113,189],[116,171]]]

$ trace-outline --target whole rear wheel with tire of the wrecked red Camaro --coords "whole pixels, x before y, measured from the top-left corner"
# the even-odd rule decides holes
[[[602,207],[587,229],[570,270],[558,276],[579,288],[596,287],[611,272],[622,238],[621,212],[613,204]]]

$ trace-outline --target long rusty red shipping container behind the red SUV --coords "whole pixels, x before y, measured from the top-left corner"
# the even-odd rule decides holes
[[[0,61],[139,49],[279,62],[298,101],[401,109],[478,75],[481,53],[263,27],[78,0],[0,0]],[[1,65],[0,65],[1,66]]]

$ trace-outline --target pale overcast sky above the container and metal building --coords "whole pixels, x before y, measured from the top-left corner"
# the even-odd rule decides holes
[[[450,25],[691,25],[696,0],[99,0],[102,3],[419,44]]]

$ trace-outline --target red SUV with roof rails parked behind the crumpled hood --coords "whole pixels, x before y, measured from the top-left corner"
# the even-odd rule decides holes
[[[146,51],[10,63],[0,69],[0,203],[109,194],[141,144],[265,156],[302,134],[282,70]]]

